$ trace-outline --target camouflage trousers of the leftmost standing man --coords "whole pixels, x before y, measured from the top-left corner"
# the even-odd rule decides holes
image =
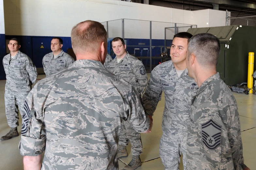
[[[8,125],[12,128],[19,126],[19,110],[24,113],[24,103],[29,92],[5,92],[5,112]]]

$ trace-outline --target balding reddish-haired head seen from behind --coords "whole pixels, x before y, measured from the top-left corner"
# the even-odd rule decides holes
[[[75,54],[97,52],[102,42],[107,44],[107,32],[101,23],[87,20],[72,28],[71,41]]]

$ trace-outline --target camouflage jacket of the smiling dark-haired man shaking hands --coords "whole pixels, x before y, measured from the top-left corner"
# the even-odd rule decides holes
[[[197,91],[198,85],[193,78],[188,76],[187,69],[178,78],[174,64],[172,61],[167,61],[152,70],[142,101],[146,112],[153,116],[158,102],[162,99],[162,92],[164,92],[164,115],[169,115],[171,120],[163,118],[162,127],[165,127],[165,121],[171,121],[172,126],[166,131],[173,134],[177,130],[187,130],[186,123],[191,113],[191,100]]]

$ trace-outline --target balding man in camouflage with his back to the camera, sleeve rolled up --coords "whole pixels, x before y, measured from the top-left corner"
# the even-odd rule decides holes
[[[141,133],[152,127],[136,89],[103,66],[104,26],[81,22],[71,39],[77,61],[40,80],[26,99],[28,124],[23,121],[20,143],[26,170],[41,168],[44,150],[42,170],[118,169],[121,122]]]

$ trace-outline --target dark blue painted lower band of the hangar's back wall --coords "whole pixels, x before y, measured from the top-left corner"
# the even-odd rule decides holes
[[[28,55],[31,60],[35,63],[37,68],[42,67],[42,58],[45,54],[52,52],[51,51],[51,40],[53,36],[21,36],[21,35],[4,35],[0,34],[0,57],[1,61],[3,60],[3,57],[7,54],[6,53],[6,39],[11,38],[18,38],[21,41],[21,48],[20,50]],[[67,52],[67,49],[72,48],[71,45],[71,37],[60,37],[63,40],[63,48],[62,50],[64,52]],[[145,43],[145,45],[138,45],[138,43]],[[166,46],[170,47],[172,43],[172,40],[166,40]],[[41,45],[43,45],[44,48],[40,48]],[[130,54],[134,54],[134,49],[140,49],[135,50],[135,56],[149,56],[150,51],[143,50],[143,49],[149,49],[150,50],[150,39],[126,39],[126,45],[127,45],[127,51]],[[131,47],[132,46],[132,47]],[[144,47],[142,47],[144,46]],[[152,39],[152,46],[164,46],[164,39]],[[112,48],[108,47],[108,50],[111,50]],[[142,55],[141,55],[142,50]],[[164,48],[162,49],[162,52]],[[110,52],[110,51],[108,51]],[[168,49],[168,55],[170,53],[170,50]],[[161,48],[160,47],[154,47],[152,48],[152,56],[159,56],[161,54]],[[112,56],[114,58],[114,54],[112,53]],[[158,59],[152,60],[152,64],[157,65],[159,64]],[[143,64],[149,65],[150,60],[143,60]],[[3,65],[0,64],[0,79],[5,79],[6,75],[3,69]]]

